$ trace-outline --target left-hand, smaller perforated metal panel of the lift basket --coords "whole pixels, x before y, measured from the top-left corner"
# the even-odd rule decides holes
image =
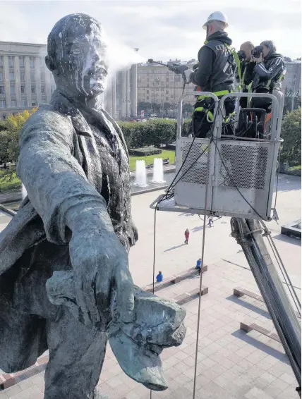
[[[207,156],[210,156],[210,147],[200,142],[193,142],[192,147],[191,144],[192,142],[183,142],[181,145],[181,164],[185,162],[180,173],[181,181],[205,185],[207,183]],[[186,159],[189,151],[190,154]]]

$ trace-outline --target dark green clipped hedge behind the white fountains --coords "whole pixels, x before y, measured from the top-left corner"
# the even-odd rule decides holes
[[[151,119],[147,122],[118,122],[128,148],[160,147],[176,140],[176,121]],[[183,134],[188,133],[190,120],[183,125]]]

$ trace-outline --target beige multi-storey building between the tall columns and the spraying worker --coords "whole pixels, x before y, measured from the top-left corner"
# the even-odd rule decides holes
[[[169,61],[171,63],[180,63],[179,60]],[[190,68],[197,63],[195,60],[181,62]],[[186,91],[192,91],[194,85],[186,85]],[[176,75],[167,67],[155,63],[142,63],[138,65],[138,102],[150,102],[155,104],[177,104],[183,92],[183,78]],[[193,104],[193,96],[186,97],[185,102]]]

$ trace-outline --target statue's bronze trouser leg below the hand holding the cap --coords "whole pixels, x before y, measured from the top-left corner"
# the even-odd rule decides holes
[[[94,399],[107,334],[87,329],[64,309],[58,321],[47,321],[47,343],[44,399]]]

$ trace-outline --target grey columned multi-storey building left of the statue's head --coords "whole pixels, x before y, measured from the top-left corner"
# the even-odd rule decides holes
[[[55,89],[44,44],[0,42],[0,120],[48,103]]]

